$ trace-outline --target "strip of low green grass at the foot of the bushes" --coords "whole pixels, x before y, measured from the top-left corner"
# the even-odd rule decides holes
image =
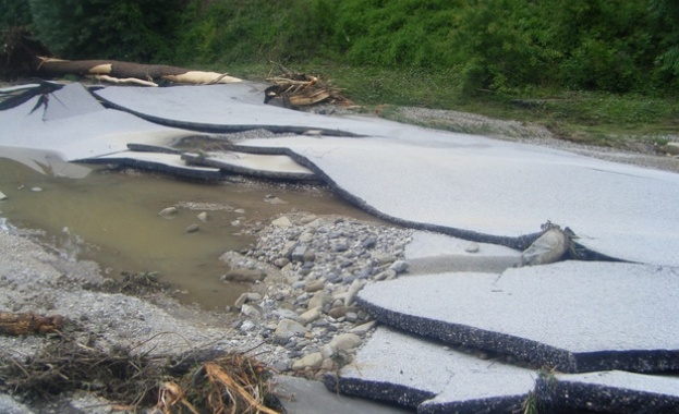
[[[534,123],[547,127],[558,138],[609,147],[625,147],[630,141],[664,145],[670,136],[679,135],[679,102],[672,96],[539,88],[512,95],[477,90],[470,96],[461,90],[459,77],[452,71],[427,72],[331,62],[289,64],[288,69],[330,81],[348,98],[369,111],[385,105],[458,110]],[[229,73],[263,81],[271,70],[276,74],[275,65],[269,62],[241,63],[229,68]],[[389,113],[386,111],[385,115]],[[432,123],[429,126],[441,125]]]

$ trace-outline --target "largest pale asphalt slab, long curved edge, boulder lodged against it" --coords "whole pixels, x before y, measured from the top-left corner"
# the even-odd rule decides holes
[[[550,221],[621,260],[679,265],[679,175],[421,129],[412,138],[251,139],[392,222],[523,249]]]

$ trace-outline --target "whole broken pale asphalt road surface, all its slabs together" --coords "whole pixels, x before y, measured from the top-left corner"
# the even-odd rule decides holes
[[[95,98],[71,84],[22,96],[0,110],[0,156],[73,176],[83,171],[64,162],[205,179],[229,169],[316,178],[378,217],[482,249],[492,243],[521,251],[542,224],[569,227],[587,258],[611,261],[453,273],[446,260],[461,256],[441,254],[424,263],[424,275],[365,288],[361,304],[402,331],[379,328],[354,364],[328,377],[328,388],[421,413],[510,412],[525,403],[547,412],[676,411],[678,174],[369,117],[270,107],[263,104],[266,86],[106,87]],[[287,167],[168,150],[196,132],[256,129],[291,136],[240,141],[234,151],[284,156]],[[184,163],[206,158],[210,166]],[[436,271],[427,273],[436,258]],[[454,263],[450,269],[460,270]],[[542,369],[453,351],[460,345]]]

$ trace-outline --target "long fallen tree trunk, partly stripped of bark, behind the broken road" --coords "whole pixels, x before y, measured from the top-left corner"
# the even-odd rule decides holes
[[[105,75],[114,78],[131,77],[154,84],[159,81],[201,85],[241,82],[240,78],[226,73],[191,71],[165,64],[142,64],[116,60],[60,60],[39,57],[37,59],[36,72],[46,76]]]

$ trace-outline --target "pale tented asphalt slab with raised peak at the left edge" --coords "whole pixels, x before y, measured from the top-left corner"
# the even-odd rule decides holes
[[[171,145],[193,134],[106,109],[77,83],[1,110],[0,124],[0,151],[32,168],[128,151],[129,142]]]

